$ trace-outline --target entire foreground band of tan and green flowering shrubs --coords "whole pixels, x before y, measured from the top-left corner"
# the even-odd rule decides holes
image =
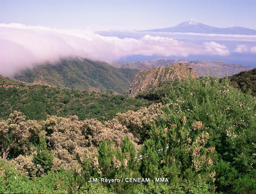
[[[76,116],[25,120],[22,113],[11,113],[0,121],[0,191],[256,193],[251,93],[210,77],[152,91],[148,96],[159,104],[118,113],[104,123]],[[169,182],[87,182],[92,177]]]

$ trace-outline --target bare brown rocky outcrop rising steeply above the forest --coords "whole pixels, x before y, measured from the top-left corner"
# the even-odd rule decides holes
[[[173,82],[175,79],[197,78],[196,71],[192,66],[179,63],[168,67],[160,66],[152,69],[141,70],[134,78],[128,89],[128,96],[135,97],[137,94],[147,89],[157,87],[165,81]]]

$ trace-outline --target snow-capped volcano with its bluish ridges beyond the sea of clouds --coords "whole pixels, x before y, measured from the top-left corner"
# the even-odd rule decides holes
[[[203,34],[232,34],[232,35],[256,35],[256,30],[247,27],[212,27],[202,24],[196,19],[189,19],[177,26],[162,29],[142,30],[143,32],[181,32],[181,33],[203,33]]]

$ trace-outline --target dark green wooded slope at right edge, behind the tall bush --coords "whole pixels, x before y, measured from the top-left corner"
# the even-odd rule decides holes
[[[251,90],[252,95],[256,96],[256,68],[242,71],[228,78],[235,87],[240,88],[243,92]]]

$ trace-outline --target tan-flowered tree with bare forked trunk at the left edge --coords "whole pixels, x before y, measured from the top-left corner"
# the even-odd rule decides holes
[[[10,114],[8,120],[0,120],[0,146],[5,161],[12,147],[28,140],[29,126],[24,120],[25,116],[18,111]]]

